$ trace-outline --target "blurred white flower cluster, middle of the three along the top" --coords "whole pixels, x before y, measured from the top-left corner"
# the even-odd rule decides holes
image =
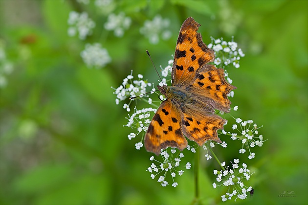
[[[131,18],[125,17],[125,14],[121,12],[119,15],[110,14],[104,26],[106,30],[113,30],[116,37],[122,37],[124,35],[124,30],[129,29],[131,23]]]

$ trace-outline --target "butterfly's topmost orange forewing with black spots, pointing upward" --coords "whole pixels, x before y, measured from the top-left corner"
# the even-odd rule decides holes
[[[214,50],[203,43],[201,34],[197,32],[199,26],[189,17],[180,28],[172,67],[173,86],[187,85],[194,79],[198,68],[215,59]]]

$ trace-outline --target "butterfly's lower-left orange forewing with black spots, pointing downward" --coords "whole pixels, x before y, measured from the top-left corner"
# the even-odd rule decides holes
[[[145,148],[156,155],[161,149],[176,147],[183,150],[187,140],[181,131],[181,116],[170,99],[163,101],[154,115],[144,138]]]

